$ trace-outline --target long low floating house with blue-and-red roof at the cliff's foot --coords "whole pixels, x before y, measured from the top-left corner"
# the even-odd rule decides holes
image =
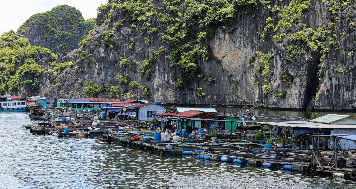
[[[67,108],[72,108],[72,110],[101,110],[103,107],[109,107],[111,103],[121,102],[119,99],[99,99],[99,98],[78,98],[65,100],[68,103],[63,103]]]

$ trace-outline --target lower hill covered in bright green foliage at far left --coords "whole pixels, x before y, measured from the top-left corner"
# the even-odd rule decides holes
[[[45,53],[46,60],[38,57],[38,53]],[[7,91],[17,94],[21,87],[28,92],[38,89],[38,79],[42,78],[49,66],[42,65],[45,61],[56,61],[56,55],[41,46],[31,46],[23,35],[13,30],[5,32],[0,37],[0,95]],[[46,69],[45,69],[46,68]]]

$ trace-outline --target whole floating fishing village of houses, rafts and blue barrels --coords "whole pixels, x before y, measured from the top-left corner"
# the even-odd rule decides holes
[[[100,139],[161,156],[281,168],[356,179],[356,118],[255,116],[160,101],[0,97],[1,111],[26,111],[32,134]],[[271,121],[272,120],[272,121]]]

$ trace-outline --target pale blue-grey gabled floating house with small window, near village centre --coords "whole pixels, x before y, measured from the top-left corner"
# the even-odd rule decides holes
[[[140,121],[152,121],[156,113],[166,113],[166,107],[154,103],[146,103],[129,107],[125,112],[136,112],[136,119]]]

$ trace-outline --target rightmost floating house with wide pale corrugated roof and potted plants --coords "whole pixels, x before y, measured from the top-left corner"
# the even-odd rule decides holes
[[[337,135],[356,134],[356,118],[348,115],[328,114],[310,121],[286,121],[286,122],[258,122],[262,126],[268,126],[270,130],[293,134],[296,136],[294,145],[302,145],[309,148],[313,145],[310,135]],[[334,141],[324,138],[316,138],[315,144],[319,149],[333,149]],[[353,141],[341,139],[339,143],[342,149],[356,149]]]

